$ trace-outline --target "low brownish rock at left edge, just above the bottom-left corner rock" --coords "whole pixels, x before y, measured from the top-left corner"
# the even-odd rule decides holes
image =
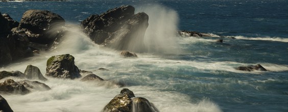
[[[0,83],[0,92],[27,94],[30,93],[30,90],[26,89],[22,84],[17,83],[12,79],[7,79],[4,82]]]

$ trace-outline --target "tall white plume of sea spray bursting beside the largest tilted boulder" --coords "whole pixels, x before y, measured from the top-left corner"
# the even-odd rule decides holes
[[[144,37],[144,44],[150,53],[178,54],[176,33],[178,14],[176,11],[161,5],[147,5],[136,8],[135,12],[149,15],[149,26]]]

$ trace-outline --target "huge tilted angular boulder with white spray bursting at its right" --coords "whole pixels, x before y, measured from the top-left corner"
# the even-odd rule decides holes
[[[129,43],[143,41],[149,19],[146,13],[134,14],[134,11],[133,6],[114,8],[101,15],[89,16],[81,22],[81,27],[97,44],[119,50],[133,50],[129,48]]]

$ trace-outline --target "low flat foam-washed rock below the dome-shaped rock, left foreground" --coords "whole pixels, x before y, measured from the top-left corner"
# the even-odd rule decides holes
[[[39,81],[21,80],[18,82],[21,83],[27,89],[33,89],[33,90],[39,90],[39,91],[51,90],[49,86]]]

